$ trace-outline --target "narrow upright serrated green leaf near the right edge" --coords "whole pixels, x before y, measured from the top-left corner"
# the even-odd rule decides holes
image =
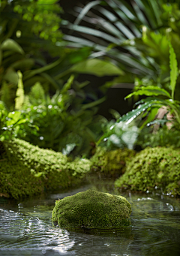
[[[170,67],[170,86],[172,89],[172,99],[174,99],[175,84],[178,78],[178,62],[172,45],[169,42],[169,67]]]

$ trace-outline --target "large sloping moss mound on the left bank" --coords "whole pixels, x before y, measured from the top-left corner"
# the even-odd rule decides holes
[[[26,197],[82,182],[89,160],[69,161],[61,152],[40,149],[24,140],[1,145],[0,196]]]

